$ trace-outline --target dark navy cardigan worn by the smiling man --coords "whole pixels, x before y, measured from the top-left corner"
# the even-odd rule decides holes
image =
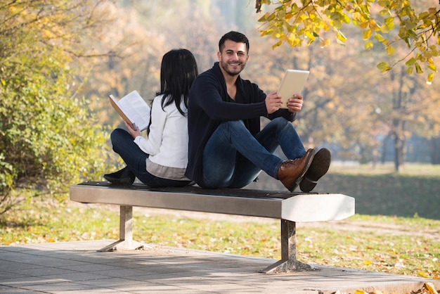
[[[260,132],[260,117],[283,116],[291,122],[295,115],[287,109],[280,109],[268,115],[266,94],[257,84],[238,77],[235,82],[237,94],[235,101],[228,97],[226,83],[219,63],[200,74],[190,89],[188,101],[188,167],[186,177],[199,183],[202,179],[203,149],[209,137],[223,121],[242,120],[250,133]]]

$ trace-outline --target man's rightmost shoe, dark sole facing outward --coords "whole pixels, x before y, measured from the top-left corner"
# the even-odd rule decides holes
[[[299,183],[301,191],[309,193],[316,187],[316,181],[328,172],[331,158],[332,156],[327,148],[322,148],[320,151],[316,152],[309,170],[307,170],[301,183]]]

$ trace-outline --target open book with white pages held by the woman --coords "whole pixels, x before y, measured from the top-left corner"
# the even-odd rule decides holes
[[[117,113],[133,129],[136,129],[136,127],[140,131],[148,129],[148,124],[150,124],[150,106],[138,94],[138,91],[132,91],[119,101],[113,95],[109,95],[108,98]]]

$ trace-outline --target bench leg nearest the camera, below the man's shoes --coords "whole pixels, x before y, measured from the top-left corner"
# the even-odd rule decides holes
[[[297,229],[295,222],[281,219],[281,260],[261,270],[264,274],[289,271],[311,271],[313,267],[297,260]]]

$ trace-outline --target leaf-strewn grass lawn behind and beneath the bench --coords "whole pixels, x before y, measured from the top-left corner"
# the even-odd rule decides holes
[[[426,168],[418,167],[415,174],[357,169],[330,170],[318,186],[354,196],[358,214],[323,225],[298,224],[297,258],[313,264],[440,279],[440,169],[427,173]],[[136,241],[280,258],[278,220],[155,212],[134,208]],[[0,245],[117,239],[118,214],[117,207],[69,201],[22,203],[1,217]]]

